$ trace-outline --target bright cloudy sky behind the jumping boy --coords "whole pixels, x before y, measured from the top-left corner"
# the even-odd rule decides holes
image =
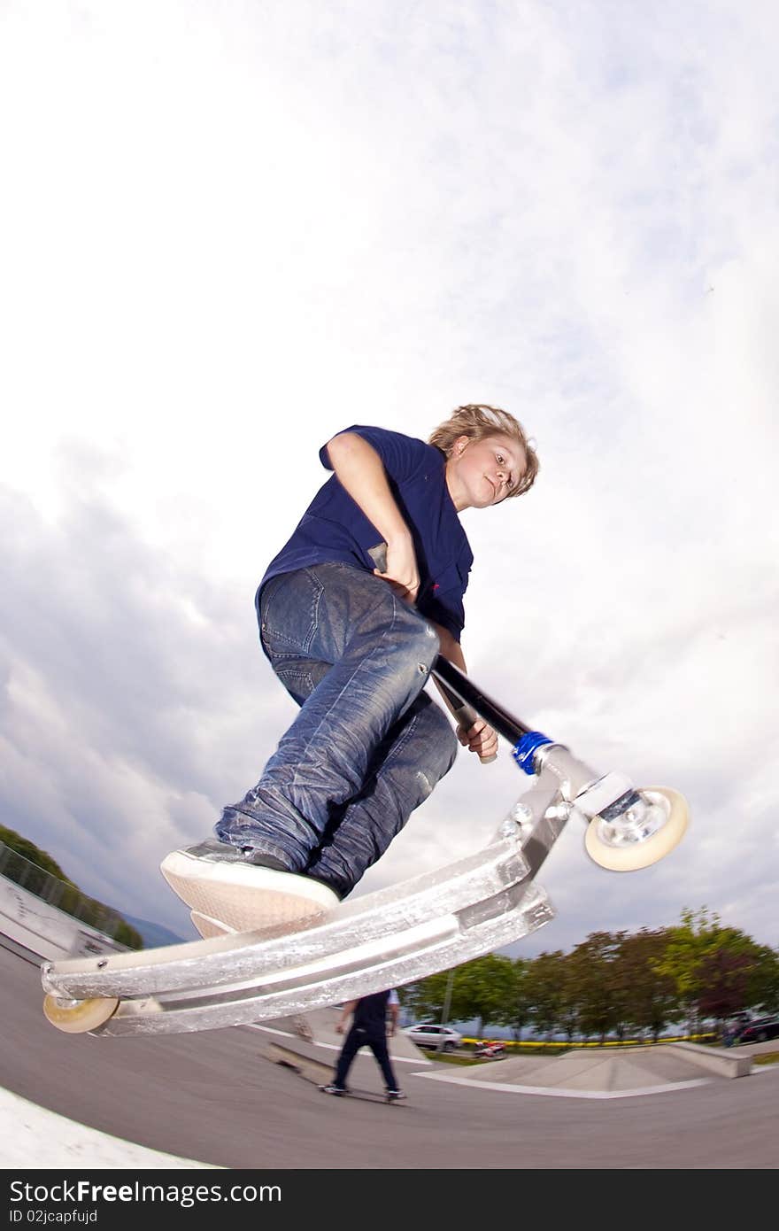
[[[464,524],[480,684],[684,842],[566,828],[516,952],[708,906],[778,944],[779,10],[769,0],[0,4],[0,820],[194,937],[158,865],[294,716],[254,591],[354,422],[517,415]],[[463,755],[356,892],[482,847]]]

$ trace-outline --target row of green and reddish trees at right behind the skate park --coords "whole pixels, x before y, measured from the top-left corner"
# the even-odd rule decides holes
[[[687,1014],[722,1020],[742,1008],[779,1009],[779,952],[722,927],[705,907],[685,908],[678,924],[649,931],[593,932],[569,954],[513,961],[487,954],[401,988],[417,1017],[476,1019],[525,1027],[550,1038],[649,1033],[657,1040]],[[692,1024],[692,1023],[690,1023]]]

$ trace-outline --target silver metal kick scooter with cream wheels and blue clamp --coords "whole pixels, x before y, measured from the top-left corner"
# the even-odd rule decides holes
[[[305,1014],[449,970],[543,927],[555,910],[537,875],[570,820],[586,826],[586,853],[609,872],[647,868],[682,840],[688,808],[679,792],[599,774],[445,659],[433,675],[460,724],[480,714],[532,779],[482,851],[343,901],[293,931],[235,933],[193,915],[202,940],[46,961],[48,1020],[102,1038]]]

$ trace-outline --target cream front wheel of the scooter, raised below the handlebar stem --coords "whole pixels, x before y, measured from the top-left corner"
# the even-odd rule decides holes
[[[673,851],[687,830],[684,795],[672,787],[642,787],[641,801],[612,821],[594,816],[587,826],[585,849],[609,872],[649,868]]]

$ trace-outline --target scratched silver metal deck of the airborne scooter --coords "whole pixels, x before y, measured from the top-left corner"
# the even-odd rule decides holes
[[[166,1034],[267,1020],[404,985],[554,917],[516,836],[432,874],[342,902],[297,932],[236,933],[43,966],[63,1001],[118,997],[90,1033]]]

